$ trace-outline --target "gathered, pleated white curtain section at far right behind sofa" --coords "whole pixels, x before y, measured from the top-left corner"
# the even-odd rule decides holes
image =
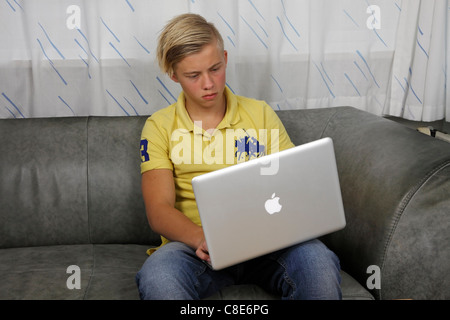
[[[386,114],[410,120],[450,121],[450,95],[446,94],[449,16],[448,1],[403,1]]]

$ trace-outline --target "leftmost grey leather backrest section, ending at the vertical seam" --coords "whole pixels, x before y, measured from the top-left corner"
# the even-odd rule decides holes
[[[86,119],[0,120],[0,247],[89,240]]]

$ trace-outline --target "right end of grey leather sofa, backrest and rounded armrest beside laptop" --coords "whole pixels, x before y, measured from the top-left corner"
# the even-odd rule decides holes
[[[377,298],[449,299],[450,144],[349,107],[278,115],[295,144],[334,141],[342,268]]]

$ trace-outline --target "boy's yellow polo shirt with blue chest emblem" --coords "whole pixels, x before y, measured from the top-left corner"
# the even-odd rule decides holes
[[[175,208],[199,226],[192,178],[294,146],[267,103],[237,96],[228,88],[225,95],[226,113],[214,130],[205,131],[191,120],[183,92],[176,103],[152,114],[142,130],[141,173],[172,170]],[[162,245],[168,242],[161,238]]]

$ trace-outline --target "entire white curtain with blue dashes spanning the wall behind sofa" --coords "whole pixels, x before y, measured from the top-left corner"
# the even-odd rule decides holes
[[[175,102],[155,48],[184,12],[222,33],[236,94],[449,119],[448,0],[0,0],[0,118],[149,115]]]

